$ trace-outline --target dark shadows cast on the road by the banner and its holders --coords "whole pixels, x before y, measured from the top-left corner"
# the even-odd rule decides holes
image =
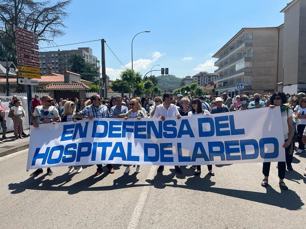
[[[249,200],[253,202],[268,204],[277,206],[280,208],[285,208],[289,210],[298,210],[304,205],[300,197],[296,192],[292,190],[282,191],[281,193],[274,190],[270,185],[266,188],[266,193],[255,192],[255,191],[245,191],[245,190],[236,190],[236,189],[226,189],[213,187],[215,182],[211,181],[211,176],[207,173],[203,178],[200,176],[194,176],[193,169],[183,169],[183,174],[177,174],[173,169],[170,169],[171,173],[168,175],[163,175],[162,173],[157,173],[153,180],[146,180],[148,184],[136,184],[139,180],[137,179],[137,174],[123,174],[122,176],[114,179],[114,183],[111,186],[100,186],[100,187],[91,187],[92,185],[101,182],[106,176],[112,176],[109,174],[107,169],[105,173],[100,176],[93,177],[89,176],[84,180],[71,184],[70,186],[64,186],[68,184],[73,176],[73,174],[63,174],[60,176],[54,177],[52,180],[44,180],[47,174],[37,177],[29,177],[27,180],[9,184],[9,190],[13,190],[12,194],[18,194],[25,190],[39,190],[39,191],[65,191],[68,194],[77,194],[82,191],[110,191],[122,188],[129,187],[144,187],[152,186],[154,188],[162,189],[165,187],[177,187],[185,188],[196,191],[211,192],[220,195],[226,195],[234,198]],[[204,170],[202,174],[206,173]],[[218,175],[218,174],[216,174]],[[188,177],[185,185],[177,184],[177,179],[185,179]],[[286,173],[286,179],[288,180],[301,180],[300,174],[295,171],[290,171]],[[304,183],[306,184],[306,178],[302,176]],[[41,186],[39,186],[42,184]],[[101,185],[103,183],[101,182]],[[260,182],[255,185],[260,185]]]

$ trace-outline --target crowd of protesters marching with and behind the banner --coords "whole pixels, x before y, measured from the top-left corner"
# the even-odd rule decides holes
[[[16,96],[17,97],[17,96]],[[21,137],[21,127],[18,117],[24,115],[24,111],[21,108],[20,101],[13,96],[11,111],[14,119],[14,128],[16,123],[16,138]],[[99,94],[92,94],[90,99],[60,99],[59,103],[50,96],[43,96],[41,99],[38,95],[31,100],[31,121],[34,127],[38,127],[42,123],[57,123],[57,122],[75,122],[81,119],[93,119],[93,118],[160,118],[165,121],[166,118],[176,117],[180,119],[182,116],[193,115],[211,115],[224,112],[243,111],[259,109],[263,107],[270,107],[274,109],[276,106],[280,107],[284,143],[282,147],[285,148],[285,162],[278,162],[278,177],[279,186],[283,190],[288,190],[288,187],[284,183],[286,168],[288,171],[292,171],[293,153],[297,154],[304,152],[306,144],[306,98],[304,93],[298,94],[285,94],[283,92],[269,93],[268,95],[254,94],[248,95],[236,95],[234,98],[230,98],[227,93],[223,93],[221,96],[195,96],[191,95],[183,96],[178,94],[173,96],[167,92],[163,94],[163,97],[157,96],[154,99],[152,97],[136,97],[131,99],[127,96],[121,98],[116,96],[108,99],[103,99]],[[1,109],[0,109],[1,117]],[[1,120],[0,120],[1,121]],[[2,126],[2,121],[1,121]],[[3,128],[3,127],[2,127]],[[15,133],[15,132],[14,132]],[[4,134],[5,136],[5,134]],[[298,148],[295,149],[295,143],[298,143]],[[263,163],[263,181],[261,185],[263,187],[268,186],[268,178],[270,172],[271,162]],[[114,173],[112,164],[106,165],[110,173]],[[182,170],[179,166],[174,166],[175,171],[179,174]],[[211,176],[215,176],[212,165],[207,165],[208,173]],[[192,165],[195,169],[195,175],[198,176],[201,173],[200,165]],[[157,172],[162,172],[163,165],[160,165]],[[74,166],[69,166],[67,173],[74,172]],[[82,172],[82,166],[78,166],[76,173]],[[127,165],[124,173],[130,172],[130,165]],[[37,169],[30,176],[43,173],[43,169]],[[94,176],[99,176],[103,173],[103,166],[97,165],[97,171]],[[140,173],[140,165],[136,167],[136,173]],[[47,168],[47,174],[52,175],[53,172],[50,168]],[[306,176],[306,168],[304,171]]]

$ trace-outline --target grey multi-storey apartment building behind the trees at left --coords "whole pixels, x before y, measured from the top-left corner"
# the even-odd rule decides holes
[[[58,49],[58,51],[39,52],[41,73],[48,72],[48,64],[52,67],[51,71],[53,73],[63,74],[65,69],[71,70],[72,64],[68,63],[69,53],[81,54],[84,56],[85,62],[93,63],[96,67],[98,66],[98,58],[92,55],[92,49],[89,47],[62,51]]]

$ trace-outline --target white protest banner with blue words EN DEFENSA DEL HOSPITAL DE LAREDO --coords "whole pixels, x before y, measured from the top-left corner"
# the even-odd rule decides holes
[[[189,117],[94,118],[31,126],[27,169],[285,161],[279,107]]]

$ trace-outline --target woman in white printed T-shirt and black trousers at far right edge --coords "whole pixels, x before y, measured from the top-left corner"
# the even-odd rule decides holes
[[[306,126],[306,98],[300,99],[299,106],[296,106],[294,108],[294,114],[298,115],[298,118],[300,119],[300,125],[297,125],[297,140],[299,143],[299,149],[297,150],[297,153],[303,153],[304,151],[304,143],[302,141],[303,138],[303,132]]]

